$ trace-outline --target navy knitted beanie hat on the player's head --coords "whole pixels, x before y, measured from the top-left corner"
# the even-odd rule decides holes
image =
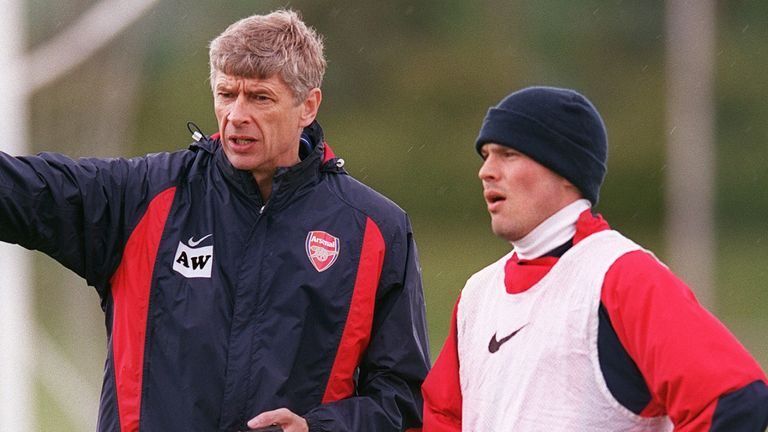
[[[475,149],[496,143],[511,147],[576,186],[597,204],[608,158],[603,119],[574,90],[528,87],[488,110]]]

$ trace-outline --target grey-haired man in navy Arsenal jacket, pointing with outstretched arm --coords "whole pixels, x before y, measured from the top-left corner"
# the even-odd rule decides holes
[[[407,215],[315,121],[321,38],[292,11],[211,42],[219,133],[134,159],[0,154],[0,239],[94,286],[100,431],[403,431],[429,368]]]

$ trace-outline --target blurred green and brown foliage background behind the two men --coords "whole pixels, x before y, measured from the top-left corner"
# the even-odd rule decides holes
[[[30,45],[93,3],[31,0]],[[674,125],[664,118],[660,0],[161,0],[98,58],[35,96],[35,149],[132,156],[183,148],[188,120],[215,132],[208,41],[238,18],[283,6],[325,36],[319,120],[331,146],[354,176],[411,215],[433,359],[466,278],[509,250],[490,233],[473,142],[486,109],[512,90],[557,85],[593,100],[610,141],[598,210],[664,259],[664,145]],[[717,20],[713,313],[765,368],[768,3],[720,2]],[[55,264],[38,259],[43,325],[97,390],[98,298],[59,289],[84,284],[63,282]]]

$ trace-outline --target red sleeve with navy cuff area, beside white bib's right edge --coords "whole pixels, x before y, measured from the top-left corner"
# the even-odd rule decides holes
[[[668,268],[629,253],[606,274],[601,300],[651,393],[641,415],[668,415],[676,431],[765,430],[765,374]]]

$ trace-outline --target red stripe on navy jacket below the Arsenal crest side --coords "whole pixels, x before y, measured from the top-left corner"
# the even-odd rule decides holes
[[[365,225],[352,302],[336,360],[325,387],[323,403],[348,398],[354,394],[354,372],[371,338],[376,287],[379,285],[385,252],[386,246],[381,231],[369,218]]]

